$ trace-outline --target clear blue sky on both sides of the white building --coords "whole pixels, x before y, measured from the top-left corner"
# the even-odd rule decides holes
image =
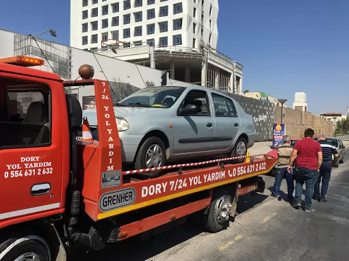
[[[34,4],[35,2],[35,4]],[[69,0],[1,1],[0,27],[69,44]],[[312,113],[349,106],[349,0],[220,0],[218,50],[244,65],[244,90],[306,92]]]

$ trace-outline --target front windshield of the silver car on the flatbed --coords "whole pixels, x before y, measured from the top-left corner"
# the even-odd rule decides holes
[[[169,108],[184,90],[185,87],[175,86],[146,87],[120,100],[116,106]]]

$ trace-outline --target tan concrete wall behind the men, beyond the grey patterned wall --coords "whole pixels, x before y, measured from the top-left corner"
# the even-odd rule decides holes
[[[292,138],[303,138],[306,128],[312,128],[315,135],[322,133],[326,136],[333,136],[333,122],[328,122],[324,118],[313,115],[308,111],[298,111],[283,108],[283,123],[285,123],[286,135]],[[281,122],[281,107],[275,107],[274,122]]]

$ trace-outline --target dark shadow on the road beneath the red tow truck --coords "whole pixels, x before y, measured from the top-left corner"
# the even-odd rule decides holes
[[[258,204],[261,204],[268,198],[268,195],[251,196],[250,194],[242,195],[237,202],[236,212],[241,215],[243,212],[250,210]],[[237,223],[242,217],[236,217]],[[194,236],[205,236],[208,232],[200,224],[198,215],[191,215],[187,222],[168,230],[150,239],[140,241],[141,236],[135,236],[119,243],[109,244],[101,251],[91,251],[89,253],[75,253],[68,258],[68,261],[114,261],[114,260],[146,260],[157,256],[159,253],[175,247],[180,243],[188,241]],[[174,250],[175,251],[175,250]]]

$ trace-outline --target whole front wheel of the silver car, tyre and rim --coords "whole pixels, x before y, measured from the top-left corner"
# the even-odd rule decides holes
[[[148,169],[164,166],[166,162],[166,148],[159,137],[148,137],[140,146],[135,157],[135,169]],[[159,174],[161,170],[152,171]]]

